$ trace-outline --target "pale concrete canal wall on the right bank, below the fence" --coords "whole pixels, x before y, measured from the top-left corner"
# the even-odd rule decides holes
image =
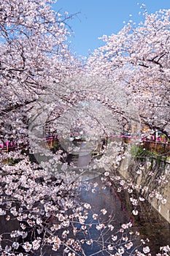
[[[170,158],[128,155],[121,162],[119,173],[135,184],[148,187],[145,199],[170,223]]]

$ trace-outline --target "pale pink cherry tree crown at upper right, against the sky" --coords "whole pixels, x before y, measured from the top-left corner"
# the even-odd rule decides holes
[[[122,83],[144,124],[169,136],[170,11],[142,14],[144,22],[138,26],[129,20],[117,34],[104,35],[104,46],[90,56],[88,67]]]

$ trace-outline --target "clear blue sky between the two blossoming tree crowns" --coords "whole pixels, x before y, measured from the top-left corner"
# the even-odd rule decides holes
[[[170,8],[170,0],[58,0],[54,9],[69,14],[80,12],[69,20],[74,31],[71,46],[78,55],[88,56],[88,49],[93,51],[102,45],[98,37],[117,34],[124,26],[123,21],[139,23],[141,4],[146,5],[149,13]]]

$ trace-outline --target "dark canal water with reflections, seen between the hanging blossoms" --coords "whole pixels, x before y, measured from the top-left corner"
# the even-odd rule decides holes
[[[91,238],[94,242],[90,245],[82,244],[85,256],[110,255],[108,250],[105,248],[107,248],[108,244],[113,244],[113,234],[117,236],[117,242],[114,242],[115,247],[120,247],[121,243],[125,244],[125,242],[123,242],[123,236],[125,236],[126,230],[124,230],[123,235],[121,235],[121,233],[118,232],[122,225],[125,223],[133,223],[133,226],[130,229],[134,231],[134,234],[136,233],[136,231],[140,233],[140,235],[138,236],[138,240],[135,239],[133,241],[136,248],[137,246],[139,246],[139,244],[141,244],[141,239],[150,239],[150,242],[146,246],[150,246],[152,256],[155,256],[159,252],[160,246],[166,246],[167,244],[169,244],[169,223],[166,222],[157,213],[157,211],[151,208],[151,206],[147,204],[147,202],[142,202],[139,208],[139,215],[134,217],[131,214],[132,208],[131,203],[129,203],[130,200],[128,193],[125,193],[123,191],[117,192],[117,188],[114,187],[114,185],[108,186],[106,181],[101,181],[101,176],[93,178],[93,180],[90,180],[89,182],[92,187],[86,184],[82,185],[82,188],[80,189],[80,200],[83,203],[89,203],[92,206],[92,208],[90,209],[90,214],[88,216],[88,219],[86,219],[85,224],[93,224],[91,225],[91,228],[88,231],[86,238]],[[101,209],[106,209],[107,213],[102,214]],[[98,219],[93,219],[93,214],[98,214]],[[104,223],[105,225],[108,225],[108,223],[112,224],[114,226],[113,230],[109,230],[108,232],[108,230],[106,231],[104,229],[96,229],[96,225],[99,224],[98,221],[100,223]],[[6,223],[6,219],[4,217],[1,217],[0,233],[18,229],[17,222],[13,222],[13,224],[10,227],[7,226]],[[85,238],[85,236],[82,233],[77,233],[77,238],[81,240]],[[29,255],[38,256],[39,253],[35,252],[34,254],[32,253]],[[46,252],[43,255],[61,256],[63,255],[63,252],[54,252],[51,249],[46,249]],[[80,255],[82,254],[80,253]],[[123,255],[134,255],[134,252],[129,250],[128,254],[124,253]]]

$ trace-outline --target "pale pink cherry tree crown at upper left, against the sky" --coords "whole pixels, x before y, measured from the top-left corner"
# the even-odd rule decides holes
[[[67,43],[72,33],[66,23],[72,15],[54,12],[52,3],[1,1],[2,138],[26,134],[29,105],[78,67]]]

